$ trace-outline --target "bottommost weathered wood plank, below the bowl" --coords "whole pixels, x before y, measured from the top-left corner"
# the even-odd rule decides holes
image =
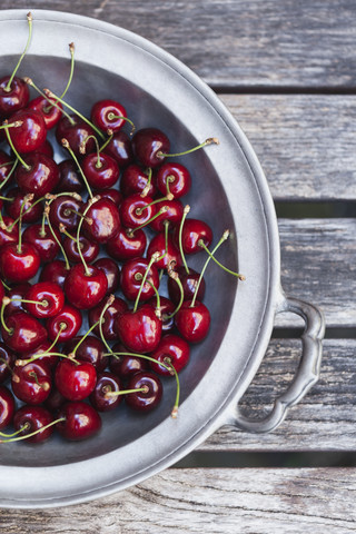
[[[337,469],[168,469],[89,504],[0,510],[12,534],[353,534],[356,472]]]

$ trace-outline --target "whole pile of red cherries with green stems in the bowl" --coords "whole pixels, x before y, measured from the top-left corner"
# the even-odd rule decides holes
[[[0,79],[0,441],[89,437],[123,399],[155,408],[162,376],[176,378],[176,416],[178,373],[209,330],[204,270],[228,233],[210,253],[162,131],[127,134],[115,100],[87,118],[29,86]],[[201,250],[199,274],[186,256]]]

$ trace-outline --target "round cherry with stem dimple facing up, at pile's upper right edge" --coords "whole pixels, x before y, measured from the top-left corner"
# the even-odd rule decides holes
[[[162,195],[171,194],[175,198],[179,198],[190,190],[190,172],[181,164],[165,162],[157,170],[156,179],[157,187]]]

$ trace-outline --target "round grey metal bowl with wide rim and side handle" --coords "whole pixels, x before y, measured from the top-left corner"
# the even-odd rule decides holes
[[[279,283],[279,239],[266,178],[245,135],[216,95],[187,67],[151,42],[98,20],[36,10],[29,55],[20,75],[61,92],[69,72],[68,43],[76,44],[76,70],[68,101],[88,113],[92,102],[115,98],[138,128],[166,131],[181,150],[218,137],[219,146],[185,156],[194,177],[190,215],[205,219],[215,241],[231,239],[220,259],[246,276],[236,279],[215,265],[206,275],[211,312],[208,338],[197,345],[181,373],[179,416],[169,414],[175,380],[149,416],[122,408],[103,417],[87,442],[55,437],[42,445],[0,446],[0,505],[47,507],[79,503],[125,488],[174,464],[224,424],[253,432],[275,428],[317,379],[324,322],[318,309],[287,298]],[[26,11],[0,11],[0,75],[12,70],[27,39]],[[60,152],[58,158],[63,157]],[[201,255],[200,255],[201,256]],[[199,267],[202,258],[196,258]],[[289,310],[306,323],[301,365],[289,389],[263,421],[239,414],[238,400],[267,348],[275,315]]]

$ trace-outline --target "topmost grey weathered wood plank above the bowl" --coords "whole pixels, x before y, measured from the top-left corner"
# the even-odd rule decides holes
[[[24,8],[26,0],[2,0]],[[135,31],[222,87],[355,87],[353,0],[42,0]]]

